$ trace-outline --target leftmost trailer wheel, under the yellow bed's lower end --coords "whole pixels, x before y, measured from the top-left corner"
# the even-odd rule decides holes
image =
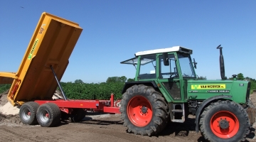
[[[23,124],[35,125],[38,124],[36,120],[36,111],[39,104],[36,102],[26,102],[23,104],[19,111],[19,116]]]

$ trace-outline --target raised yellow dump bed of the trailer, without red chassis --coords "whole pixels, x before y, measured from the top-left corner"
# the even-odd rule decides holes
[[[0,72],[0,84],[12,82],[9,102],[52,98],[58,82],[50,66],[60,80],[81,32],[78,23],[42,13],[18,72]]]

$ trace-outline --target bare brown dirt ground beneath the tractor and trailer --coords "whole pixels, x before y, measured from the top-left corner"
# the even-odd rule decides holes
[[[5,95],[0,94],[0,106],[4,105]],[[256,104],[256,92],[251,94]],[[80,123],[61,122],[60,125],[44,128],[23,125],[18,115],[0,114],[0,141],[206,141],[201,133],[196,133],[194,117],[189,116],[184,124],[169,124],[159,136],[140,136],[128,133],[122,125],[120,114],[87,113]],[[247,136],[247,141],[256,141],[255,128]]]

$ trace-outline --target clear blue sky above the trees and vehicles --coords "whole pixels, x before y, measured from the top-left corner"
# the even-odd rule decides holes
[[[23,8],[21,8],[21,6]],[[44,11],[83,28],[62,82],[133,78],[119,62],[143,50],[181,45],[193,50],[196,73],[220,79],[218,45],[225,75],[256,78],[256,1],[0,1],[0,71],[16,72]]]

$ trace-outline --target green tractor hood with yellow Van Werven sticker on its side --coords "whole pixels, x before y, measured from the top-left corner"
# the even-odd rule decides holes
[[[250,95],[250,82],[242,80],[188,80],[188,99],[208,99],[230,95],[232,100],[245,104]]]

